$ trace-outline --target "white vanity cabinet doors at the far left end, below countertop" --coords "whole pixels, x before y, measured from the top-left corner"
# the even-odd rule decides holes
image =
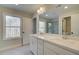
[[[35,55],[43,55],[43,50],[44,50],[44,41],[41,40],[40,38],[36,38],[31,36],[30,39],[30,50],[32,51],[33,54]]]

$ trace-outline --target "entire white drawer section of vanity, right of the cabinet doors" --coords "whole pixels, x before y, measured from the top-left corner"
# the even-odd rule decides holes
[[[65,50],[55,44],[52,44],[50,42],[44,42],[44,54],[48,55],[74,55],[74,53]]]

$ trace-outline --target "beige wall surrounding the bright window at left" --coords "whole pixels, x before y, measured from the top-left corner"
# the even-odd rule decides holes
[[[24,12],[0,7],[0,50],[13,48],[13,47],[16,47],[16,46],[21,46],[21,40],[20,39],[3,40],[3,37],[2,37],[3,14],[11,14],[11,15],[15,15],[15,16],[20,16],[22,18],[22,20],[24,21],[23,24],[25,24],[25,25],[23,25],[23,27],[24,27],[23,30],[27,32],[23,36],[25,38],[23,41],[24,41],[24,44],[29,43],[28,36],[31,33],[31,26],[32,26],[31,23],[30,23],[31,17]]]

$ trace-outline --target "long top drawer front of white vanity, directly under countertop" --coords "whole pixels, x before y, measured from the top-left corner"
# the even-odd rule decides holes
[[[49,42],[44,42],[44,48],[48,48],[49,50],[56,52],[58,55],[74,55],[74,53],[67,51],[57,45],[53,45]]]

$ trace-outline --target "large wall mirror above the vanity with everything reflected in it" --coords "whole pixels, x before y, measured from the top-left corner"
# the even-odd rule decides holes
[[[72,8],[76,5],[68,5],[67,9],[65,6],[67,5],[56,9],[47,8],[46,12],[40,14],[38,31],[40,33],[79,36],[79,11]]]

